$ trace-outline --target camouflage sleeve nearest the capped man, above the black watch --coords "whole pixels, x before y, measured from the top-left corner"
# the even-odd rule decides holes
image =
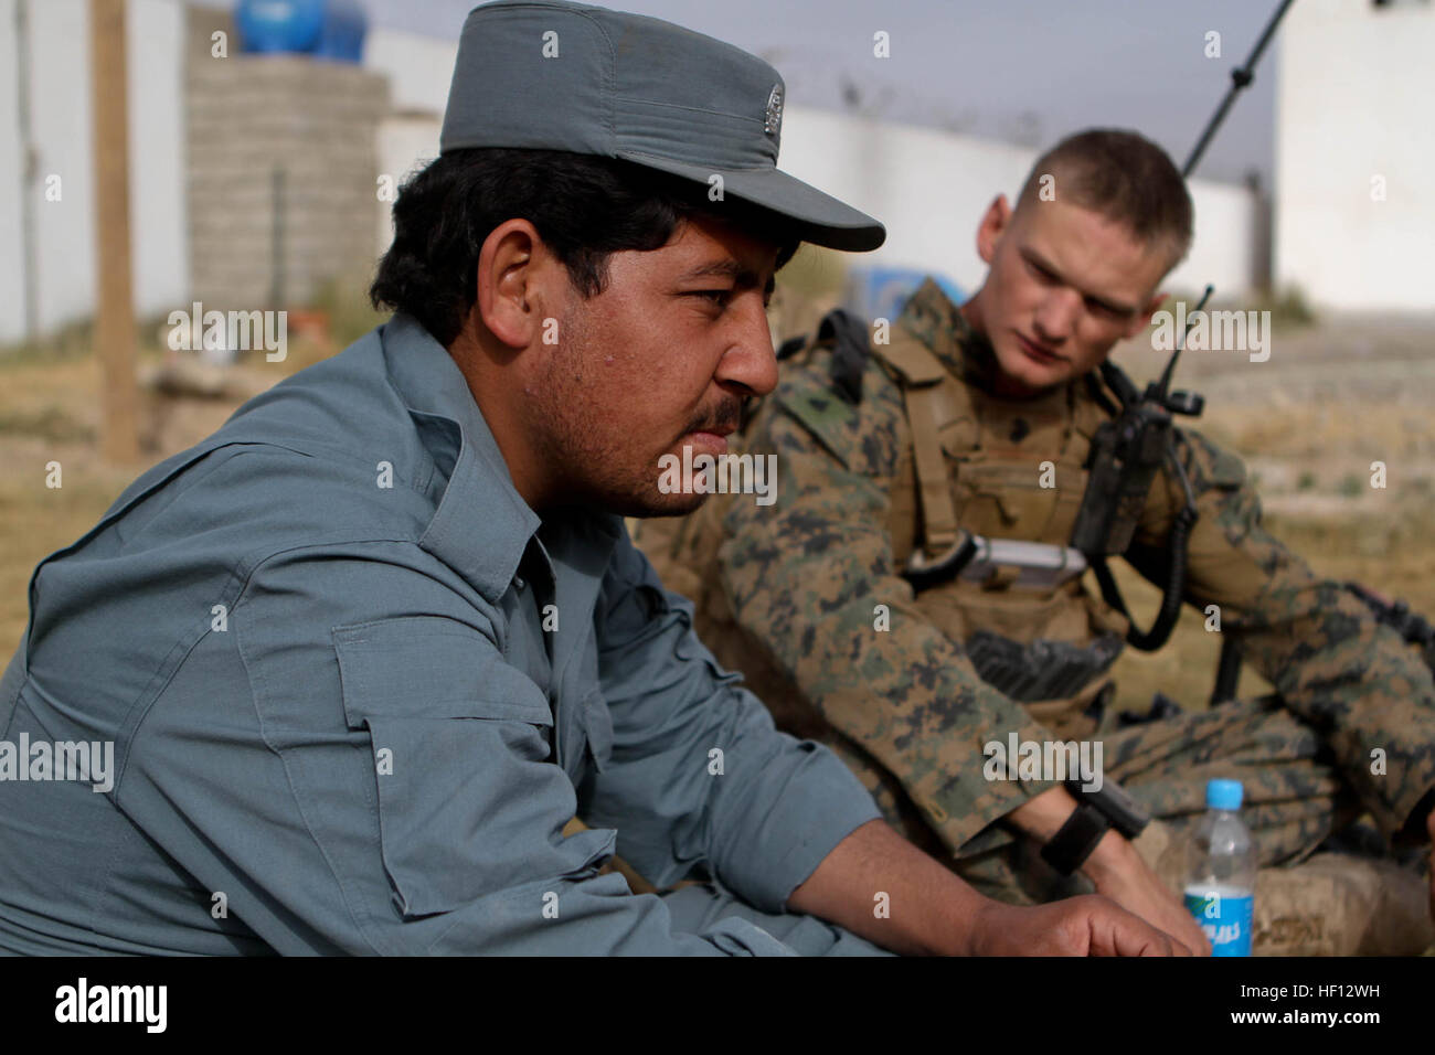
[[[901,393],[878,366],[864,390],[852,406],[827,388],[825,370],[785,372],[749,444],[776,455],[778,497],[729,504],[722,583],[743,629],[954,851],[1052,787],[987,781],[983,746],[1046,733],[977,676],[897,574],[888,494],[910,439]]]

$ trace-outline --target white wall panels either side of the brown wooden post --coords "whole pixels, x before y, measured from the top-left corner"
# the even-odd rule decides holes
[[[83,317],[95,301],[95,192],[90,128],[89,6],[30,0],[30,131],[37,178],[22,182],[16,111],[17,0],[0,0],[0,342],[24,337],[26,281],[39,290],[42,332]],[[129,201],[135,307],[169,310],[188,296],[184,185],[184,9],[131,0]],[[46,201],[46,177],[60,200]],[[24,195],[34,204],[34,271],[22,247]]]

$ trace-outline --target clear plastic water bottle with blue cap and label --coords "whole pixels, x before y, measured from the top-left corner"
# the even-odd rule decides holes
[[[1208,781],[1205,817],[1187,845],[1185,907],[1215,956],[1251,955],[1256,850],[1238,810],[1240,781]]]

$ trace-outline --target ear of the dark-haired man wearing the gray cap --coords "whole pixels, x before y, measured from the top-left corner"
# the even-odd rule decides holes
[[[544,283],[557,263],[527,220],[507,220],[484,238],[474,306],[488,332],[504,344],[524,349],[538,339],[544,324]]]

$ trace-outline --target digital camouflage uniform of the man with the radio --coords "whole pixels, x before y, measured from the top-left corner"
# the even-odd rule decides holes
[[[1264,530],[1241,461],[1198,432],[1182,431],[1200,511],[1184,596],[1220,607],[1221,632],[1241,634],[1246,662],[1276,695],[1116,729],[1111,709],[1101,718],[1109,677],[1026,705],[983,682],[963,647],[977,629],[1082,644],[1128,624],[1081,578],[1045,594],[964,580],[914,594],[898,568],[921,544],[924,502],[904,406],[911,378],[893,362],[934,356],[946,372],[947,481],[961,527],[986,537],[1068,543],[1092,432],[1115,400],[1098,375],[1032,400],[989,395],[990,346],[931,281],[893,324],[891,346],[872,352],[855,403],[834,385],[831,343],[784,363],[743,444],[776,455],[775,504],[716,495],[692,517],[644,524],[639,538],[667,586],[697,601],[703,640],[748,675],[779,725],[834,748],[898,830],[1010,901],[1071,890],[1029,840],[994,824],[1052,787],[984,778],[983,746],[1013,731],[1039,742],[1098,736],[1105,778],[1177,834],[1204,812],[1210,778],[1240,779],[1261,866],[1307,857],[1365,812],[1386,837],[1406,827],[1435,787],[1429,670]],[[1055,487],[1040,487],[1043,468]],[[1181,504],[1162,468],[1126,554],[1158,584]],[[877,629],[884,611],[890,629]],[[1375,751],[1383,774],[1372,772]]]

